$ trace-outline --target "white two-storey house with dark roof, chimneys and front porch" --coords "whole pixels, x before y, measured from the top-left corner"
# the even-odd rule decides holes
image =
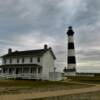
[[[49,73],[53,72],[56,59],[52,48],[47,45],[38,50],[13,52],[9,49],[1,58],[1,77],[41,80],[49,80]]]

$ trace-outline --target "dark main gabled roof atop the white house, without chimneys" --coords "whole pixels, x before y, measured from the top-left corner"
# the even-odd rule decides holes
[[[6,58],[6,57],[18,57],[18,56],[36,56],[36,57],[41,57],[43,56],[47,51],[50,51],[53,58],[56,59],[53,51],[51,48],[48,49],[38,49],[38,50],[27,50],[27,51],[14,51],[11,53],[7,53],[1,57]]]

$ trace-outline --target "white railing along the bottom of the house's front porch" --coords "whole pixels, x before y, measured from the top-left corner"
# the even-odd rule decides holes
[[[19,73],[19,74],[9,74],[9,73],[0,73],[2,78],[22,78],[22,79],[41,79],[41,74],[36,73]]]

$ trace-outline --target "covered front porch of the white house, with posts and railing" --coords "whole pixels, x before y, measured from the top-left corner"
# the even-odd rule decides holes
[[[5,65],[2,67],[0,77],[6,79],[41,79],[42,67],[39,65]]]

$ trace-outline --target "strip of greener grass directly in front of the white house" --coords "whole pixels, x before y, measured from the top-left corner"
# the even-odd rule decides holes
[[[81,85],[78,83],[69,83],[62,81],[34,81],[34,80],[0,80],[0,87],[48,87],[48,86],[75,86],[84,87],[87,85]]]

